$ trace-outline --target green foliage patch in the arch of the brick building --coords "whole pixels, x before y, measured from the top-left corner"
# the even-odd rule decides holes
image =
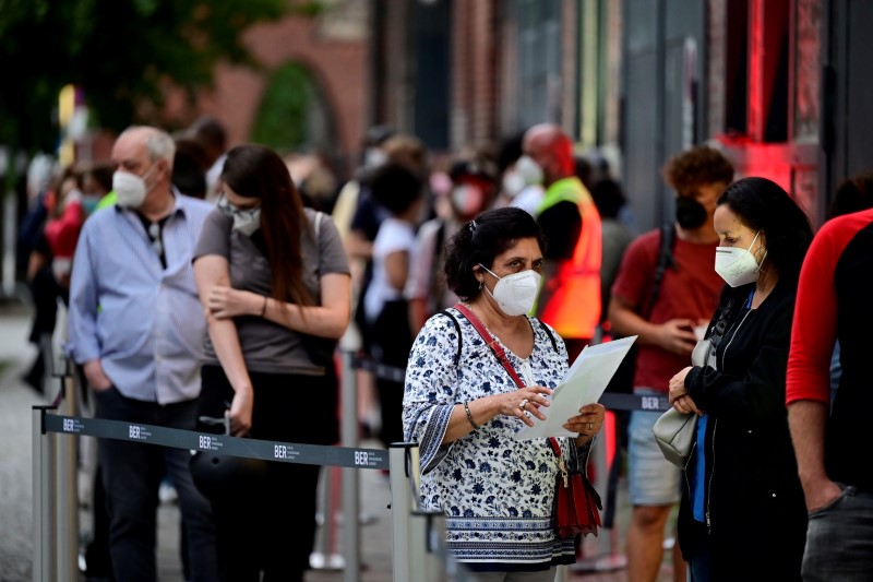
[[[299,63],[277,69],[270,78],[252,127],[252,141],[278,151],[294,151],[307,138],[312,76]]]

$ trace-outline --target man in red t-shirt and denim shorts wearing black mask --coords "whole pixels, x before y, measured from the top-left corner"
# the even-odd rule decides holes
[[[733,166],[718,151],[693,147],[663,169],[675,201],[673,264],[648,306],[660,249],[660,229],[639,235],[622,258],[612,286],[609,319],[620,335],[638,335],[634,393],[667,396],[670,378],[691,361],[695,328],[706,325],[725,284],[715,272],[718,235],[716,200],[733,180]],[[644,314],[648,313],[647,317]],[[629,486],[633,513],[627,531],[627,578],[655,581],[662,558],[663,528],[681,496],[681,471],[667,462],[651,427],[661,413],[633,411],[629,427]],[[677,544],[674,579],[685,579]]]

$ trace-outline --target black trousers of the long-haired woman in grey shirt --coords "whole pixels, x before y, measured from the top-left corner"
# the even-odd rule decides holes
[[[337,378],[249,372],[254,387],[251,437],[291,443],[338,440]],[[222,417],[234,389],[219,366],[203,366],[199,416]],[[216,427],[200,429],[216,432]],[[212,500],[218,571],[227,582],[300,581],[315,542],[321,466],[266,462],[266,477],[244,492]]]

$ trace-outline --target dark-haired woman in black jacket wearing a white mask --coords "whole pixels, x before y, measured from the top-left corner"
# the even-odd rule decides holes
[[[800,206],[764,178],[728,188],[714,223],[721,245],[715,266],[728,285],[695,354],[703,365],[670,380],[673,407],[698,415],[679,543],[691,582],[800,580],[806,510],[785,383],[798,275],[813,233]]]

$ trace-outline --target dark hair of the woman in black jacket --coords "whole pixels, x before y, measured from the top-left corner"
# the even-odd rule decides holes
[[[766,178],[737,180],[720,197],[742,224],[767,237],[767,261],[779,280],[797,283],[800,266],[812,242],[810,218],[788,192]]]

